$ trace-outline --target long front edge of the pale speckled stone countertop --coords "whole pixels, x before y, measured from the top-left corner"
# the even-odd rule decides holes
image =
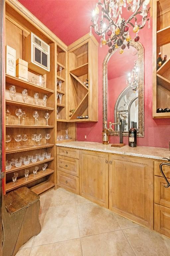
[[[69,144],[60,144],[60,143],[56,143],[56,146],[59,147],[67,147],[67,148],[77,148],[77,149],[84,149],[84,150],[90,150],[90,151],[97,151],[97,152],[104,152],[104,153],[111,153],[111,154],[118,154],[118,155],[127,155],[127,156],[136,156],[136,157],[143,157],[143,158],[150,158],[150,159],[156,159],[156,160],[163,160],[166,161],[165,159],[163,159],[163,157],[159,157],[159,156],[152,156],[152,155],[143,155],[143,154],[138,154],[138,153],[127,153],[124,151],[113,151],[113,150],[103,150],[103,149],[98,149],[98,148],[88,148],[88,147],[82,147],[82,146],[73,146],[73,145],[69,145]]]

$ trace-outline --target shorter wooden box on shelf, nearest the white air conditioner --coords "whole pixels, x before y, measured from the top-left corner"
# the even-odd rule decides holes
[[[22,59],[16,60],[16,77],[28,81],[28,62]]]

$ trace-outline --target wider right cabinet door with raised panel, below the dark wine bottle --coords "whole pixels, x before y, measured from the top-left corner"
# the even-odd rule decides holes
[[[153,228],[153,161],[109,155],[109,209]]]

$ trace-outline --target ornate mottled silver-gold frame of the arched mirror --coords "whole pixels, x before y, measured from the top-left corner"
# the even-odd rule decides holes
[[[144,49],[143,45],[134,40],[130,41],[130,46],[137,49],[138,66],[139,66],[139,85],[138,85],[138,132],[137,137],[144,137]],[[103,125],[108,122],[108,61],[111,56],[121,48],[115,49],[112,53],[108,53],[103,61]],[[128,49],[127,49],[128,51]],[[126,87],[127,88],[127,87]],[[125,88],[125,89],[126,89]],[[124,90],[125,90],[124,89]],[[122,94],[122,93],[121,93]],[[115,107],[114,107],[115,109]],[[111,136],[119,136],[119,131],[109,132]],[[123,136],[128,136],[128,132],[123,132]]]

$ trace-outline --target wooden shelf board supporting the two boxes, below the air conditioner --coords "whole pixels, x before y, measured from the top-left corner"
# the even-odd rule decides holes
[[[21,80],[17,77],[10,76],[10,75],[7,75],[7,74],[5,75],[5,81],[6,81],[6,83],[9,83],[9,84],[12,84],[12,85],[15,85],[15,86],[20,86],[24,89],[33,90],[35,92],[47,93],[47,94],[48,93],[54,93],[53,90],[50,90],[50,89],[32,84],[30,82],[26,82],[26,81]]]

